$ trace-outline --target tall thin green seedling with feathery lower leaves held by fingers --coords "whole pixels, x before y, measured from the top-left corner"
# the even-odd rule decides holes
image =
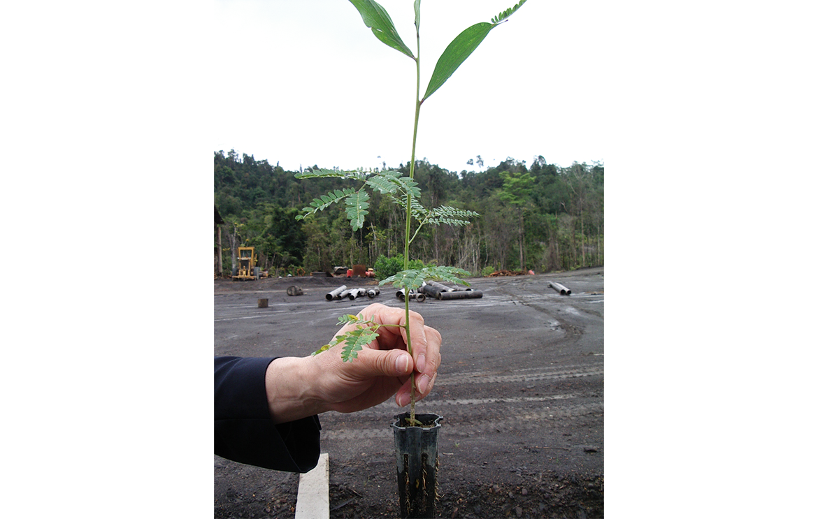
[[[380,286],[391,283],[394,287],[406,290],[408,294],[411,290],[418,289],[426,280],[444,280],[452,283],[466,284],[458,276],[469,275],[468,271],[452,266],[426,266],[422,269],[409,268],[409,245],[414,241],[418,231],[426,225],[447,224],[450,226],[466,226],[470,223],[470,218],[479,217],[478,213],[466,211],[465,209],[452,208],[450,206],[440,206],[438,208],[424,208],[420,202],[420,188],[415,181],[415,150],[417,143],[417,127],[420,119],[420,106],[429,96],[437,92],[438,88],[452,77],[455,70],[463,64],[474,49],[476,49],[488,33],[498,25],[505,22],[509,16],[521,7],[526,0],[520,0],[514,7],[501,11],[500,14],[492,18],[491,22],[480,22],[465,29],[461,34],[449,43],[446,50],[439,57],[434,72],[429,79],[429,85],[423,97],[420,97],[420,0],[415,0],[415,34],[417,40],[417,56],[407,47],[398,35],[397,29],[393,25],[389,13],[374,0],[349,0],[360,13],[366,27],[372,29],[375,38],[385,43],[389,47],[415,60],[416,65],[416,100],[415,100],[415,122],[412,132],[411,142],[411,165],[409,176],[403,177],[400,172],[387,170],[381,172],[365,171],[357,169],[355,171],[337,171],[328,169],[314,169],[309,172],[296,173],[296,178],[317,178],[317,177],[339,177],[352,181],[361,182],[361,186],[356,190],[345,188],[343,190],[330,191],[326,195],[321,195],[320,199],[313,199],[310,207],[303,208],[303,213],[299,214],[296,220],[301,220],[312,214],[322,211],[332,204],[341,201],[346,205],[347,218],[352,225],[353,231],[362,228],[364,219],[369,214],[370,195],[368,190],[377,191],[382,195],[389,196],[395,204],[398,204],[406,211],[406,229],[403,240],[403,270],[395,275],[389,276],[380,281]],[[412,222],[416,223],[414,234]],[[404,299],[406,310],[405,324],[399,325],[406,334],[407,351],[411,355],[411,336],[409,333],[409,298]],[[330,347],[344,343],[341,350],[341,358],[345,362],[352,362],[357,358],[357,352],[362,347],[374,341],[378,337],[378,329],[385,324],[377,324],[372,320],[364,320],[361,315],[342,315],[338,324],[357,324],[352,331],[343,333],[335,337],[329,344],[324,345],[312,355],[317,355],[321,351],[326,351]],[[398,325],[396,325],[398,326]],[[415,419],[415,378],[411,377],[411,410],[409,425],[419,425]]]

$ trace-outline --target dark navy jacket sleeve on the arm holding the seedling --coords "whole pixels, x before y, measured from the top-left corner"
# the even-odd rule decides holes
[[[317,415],[272,423],[264,376],[277,357],[215,357],[214,453],[240,463],[308,472],[321,454]]]

